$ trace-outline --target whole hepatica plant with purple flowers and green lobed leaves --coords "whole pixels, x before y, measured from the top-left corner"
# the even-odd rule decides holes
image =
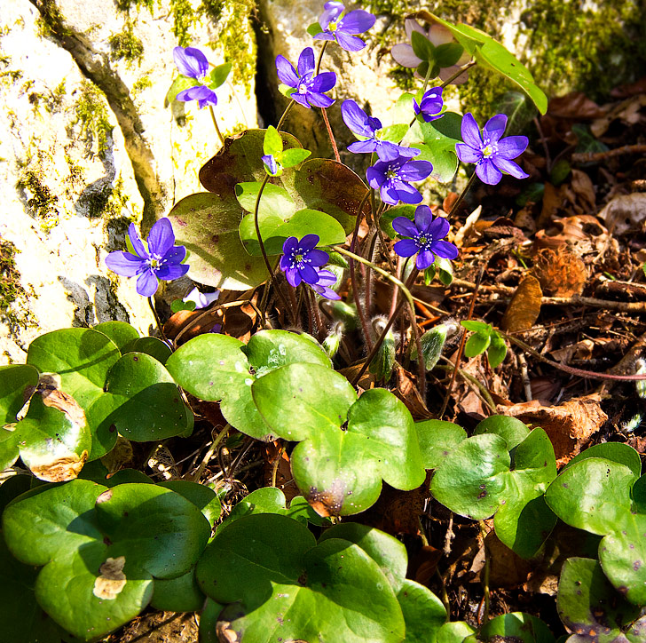
[[[464,194],[450,211],[429,194],[459,162],[465,191],[528,176],[529,140],[504,136],[508,116],[481,129],[446,109],[445,88],[480,65],[542,113],[547,99],[490,36],[421,11],[406,20],[409,42],[391,48],[418,86],[373,114],[326,52],[338,45],[351,64],[381,18],[325,4],[298,52],[276,59],[282,115],[228,138],[216,90],[229,63],[193,46],[169,52],[169,104],[208,107],[220,147],[201,168],[201,192],[146,241],[131,223],[105,258],[149,298],[154,337],[118,321],[60,329],[36,337],[25,364],[0,367],[4,639],[97,641],[151,607],[199,613],[209,643],[554,640],[522,613],[449,623],[453,594],[440,600],[406,577],[405,528],[359,522],[386,488],[383,497],[410,491],[415,500],[402,502],[420,506],[407,528],[415,553],[431,500],[474,546],[477,529],[492,528],[524,559],[555,551],[557,519],[588,532],[595,546],[563,566],[558,614],[577,640],[599,628],[609,641],[644,640],[634,449],[599,445],[558,472],[540,427],[492,415],[468,435],[429,419],[441,414],[437,383],[455,368],[441,358],[458,329],[469,358],[486,351],[496,368],[507,353],[487,322],[418,323],[430,306],[422,280],[445,288],[460,262],[452,228]],[[296,105],[311,110],[322,155],[289,133],[305,114]],[[351,135],[339,149],[337,137]],[[440,576],[446,568],[437,563]],[[485,583],[482,605],[488,592]]]

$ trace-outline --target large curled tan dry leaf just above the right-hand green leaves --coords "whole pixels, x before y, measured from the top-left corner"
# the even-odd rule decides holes
[[[601,408],[599,393],[572,398],[558,406],[542,406],[536,400],[522,402],[505,409],[505,415],[544,429],[552,441],[559,466],[576,456],[608,420]]]

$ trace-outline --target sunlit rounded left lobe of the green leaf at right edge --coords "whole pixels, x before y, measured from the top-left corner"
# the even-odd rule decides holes
[[[590,457],[572,464],[549,486],[550,509],[572,527],[604,536],[630,512],[636,476],[624,464]]]

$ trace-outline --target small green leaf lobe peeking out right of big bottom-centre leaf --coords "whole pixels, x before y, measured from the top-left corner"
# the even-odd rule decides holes
[[[402,643],[435,643],[446,621],[442,601],[424,585],[407,579],[397,599],[406,622],[406,639]]]

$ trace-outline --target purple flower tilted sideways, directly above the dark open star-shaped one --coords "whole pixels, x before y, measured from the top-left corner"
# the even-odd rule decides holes
[[[384,203],[419,203],[421,194],[408,182],[426,179],[431,171],[433,166],[429,161],[411,161],[406,156],[398,156],[392,161],[374,163],[366,170],[366,178],[370,187],[379,189]]]

